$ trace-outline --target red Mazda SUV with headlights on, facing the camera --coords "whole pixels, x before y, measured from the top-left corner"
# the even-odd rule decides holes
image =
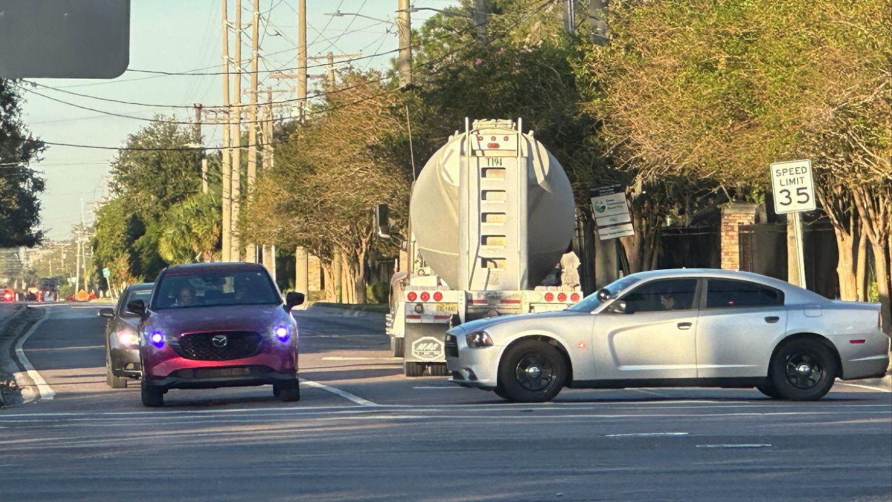
[[[139,323],[145,406],[162,406],[169,389],[273,385],[284,401],[301,397],[297,324],[303,294],[286,301],[260,264],[176,265],[155,280],[151,302],[128,312]]]

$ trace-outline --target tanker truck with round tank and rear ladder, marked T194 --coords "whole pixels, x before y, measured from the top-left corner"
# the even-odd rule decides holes
[[[409,201],[409,271],[392,281],[388,334],[406,376],[447,375],[460,322],[564,309],[578,290],[540,286],[574,234],[573,189],[521,121],[474,121],[425,163]]]

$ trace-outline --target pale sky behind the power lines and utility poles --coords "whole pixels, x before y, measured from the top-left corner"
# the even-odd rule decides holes
[[[228,2],[229,21],[235,19],[236,1]],[[252,0],[242,1],[242,21],[246,26],[242,55],[247,69],[250,68]],[[417,0],[413,6],[442,9],[456,3],[453,0]],[[30,89],[68,104],[31,91],[23,92],[27,101],[22,106],[22,120],[36,137],[54,143],[123,146],[128,134],[145,127],[150,123],[145,119],[151,119],[156,113],[175,115],[182,121],[193,120],[192,109],[171,105],[222,104],[223,82],[219,75],[160,76],[139,71],[220,71],[221,1],[131,0],[130,9],[130,63],[123,75],[111,80],[34,79],[54,89]],[[307,0],[307,52],[310,56],[328,52],[361,52],[368,56],[393,51],[398,48],[396,28],[392,24],[396,9],[397,0]],[[268,75],[270,71],[297,66],[297,0],[260,0],[260,12],[260,88],[271,86],[285,91],[277,93],[274,100],[293,98],[293,80],[270,79]],[[326,15],[335,12],[360,13],[376,20],[353,15]],[[412,27],[417,29],[432,14],[431,11],[413,13]],[[230,43],[233,43],[233,37],[230,34]],[[389,68],[394,55],[363,58],[351,64],[360,69]],[[323,70],[310,68],[309,72],[322,73]],[[310,80],[310,94],[316,81]],[[242,88],[249,88],[248,78],[243,80]],[[152,106],[110,103],[62,91]],[[243,101],[246,100],[247,96],[244,96]],[[219,126],[206,124],[202,132],[205,146],[220,145]],[[41,218],[48,238],[62,240],[69,237],[72,226],[80,222],[81,200],[87,222],[92,221],[95,208],[103,197],[108,196],[109,165],[115,155],[115,150],[50,146],[39,163],[31,164],[32,168],[44,172],[46,180]]]

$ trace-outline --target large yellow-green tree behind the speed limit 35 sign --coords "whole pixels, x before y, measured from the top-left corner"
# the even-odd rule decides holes
[[[862,235],[888,319],[888,0],[635,1],[577,68],[617,167],[644,181],[767,188],[768,164],[807,156],[837,229],[847,296]],[[862,233],[863,232],[863,233]],[[850,258],[851,256],[851,258]],[[884,272],[885,271],[885,272]]]

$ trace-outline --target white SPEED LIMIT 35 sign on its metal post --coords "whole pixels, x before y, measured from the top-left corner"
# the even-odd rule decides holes
[[[814,176],[812,161],[798,160],[772,163],[772,192],[774,213],[792,213],[793,236],[796,241],[798,286],[805,288],[805,263],[802,253],[803,211],[814,211]]]

